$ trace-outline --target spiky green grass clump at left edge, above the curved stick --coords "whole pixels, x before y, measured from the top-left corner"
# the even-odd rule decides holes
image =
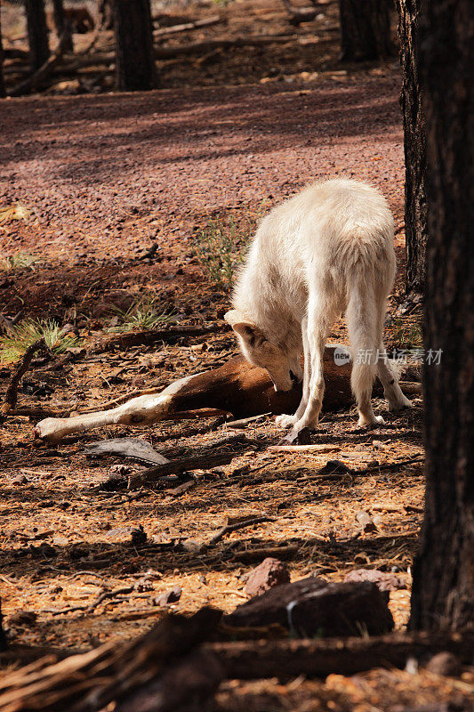
[[[80,344],[76,336],[62,335],[60,325],[54,320],[22,320],[8,334],[0,337],[0,361],[14,363],[20,360],[28,347],[41,338],[54,354]]]

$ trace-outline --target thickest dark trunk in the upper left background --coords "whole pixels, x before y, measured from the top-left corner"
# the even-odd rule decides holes
[[[155,59],[149,0],[114,0],[119,89],[152,89]]]

